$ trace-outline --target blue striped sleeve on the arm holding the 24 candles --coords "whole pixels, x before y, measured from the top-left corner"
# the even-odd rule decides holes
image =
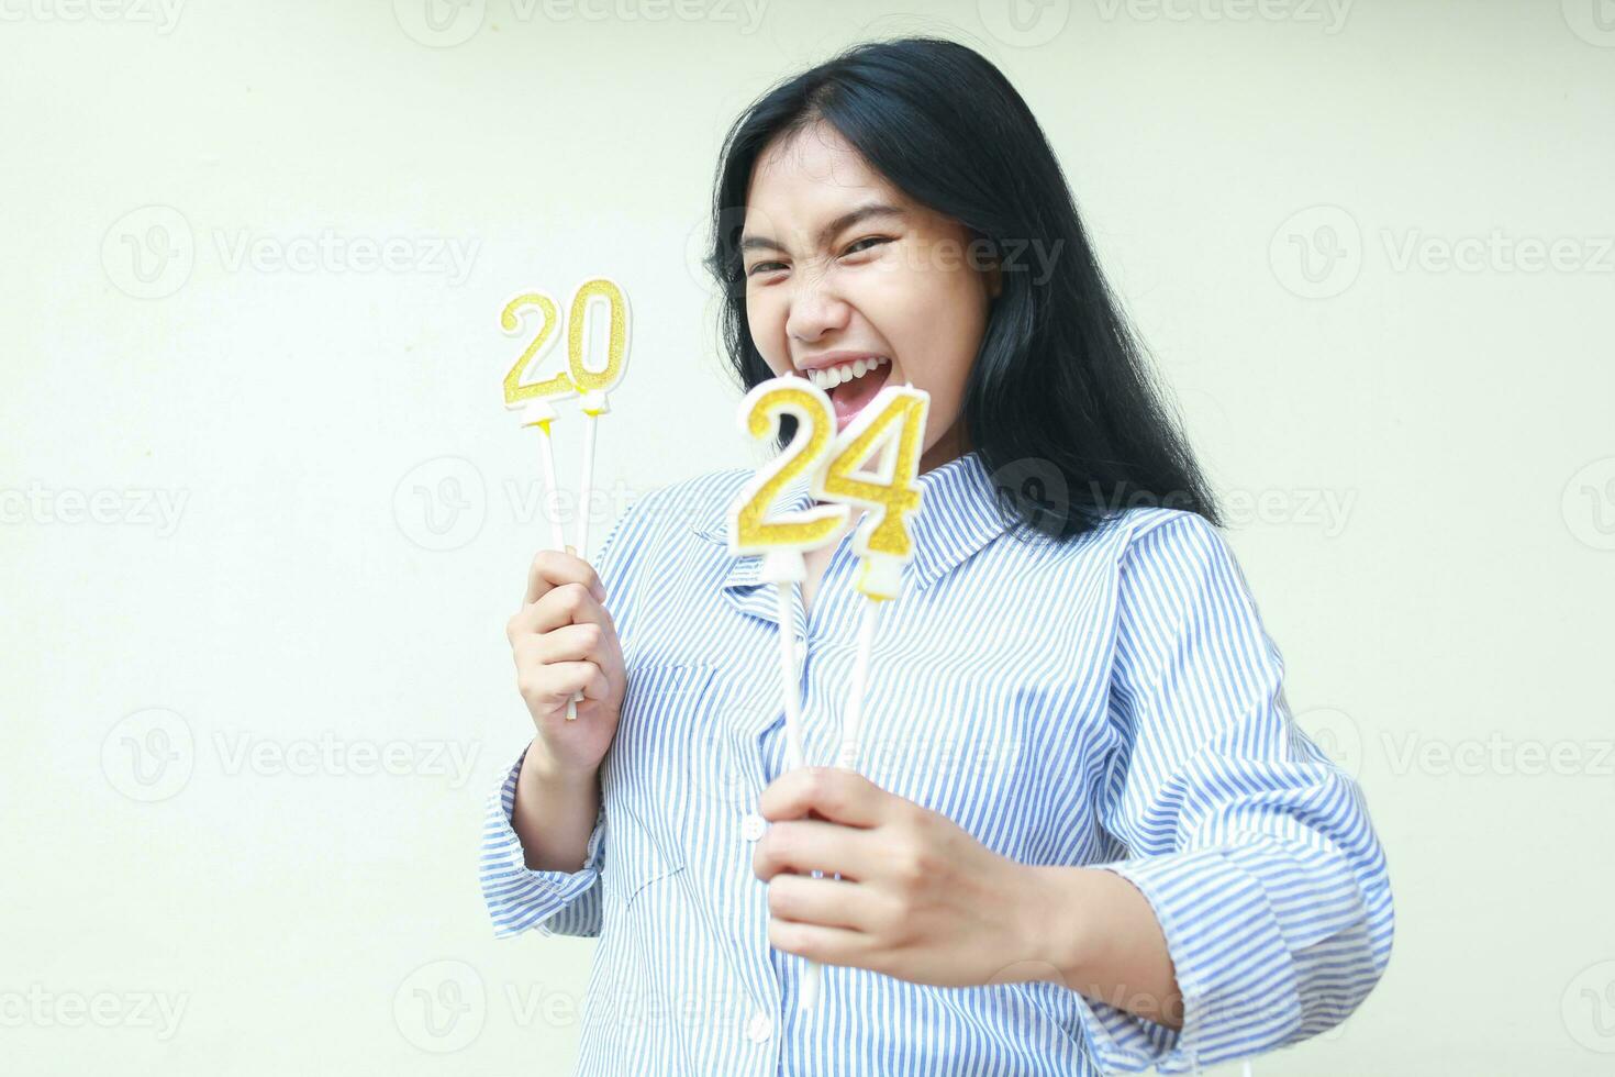
[[[1295,725],[1284,662],[1218,531],[1172,513],[1122,555],[1093,867],[1150,903],[1182,1029],[1079,995],[1105,1071],[1192,1072],[1344,1020],[1391,958],[1384,853],[1357,782]]]

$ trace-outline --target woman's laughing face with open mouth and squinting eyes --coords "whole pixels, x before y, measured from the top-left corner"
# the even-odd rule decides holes
[[[741,236],[751,339],[775,375],[824,383],[845,428],[882,384],[930,394],[921,471],[966,452],[964,379],[998,292],[985,245],[908,199],[827,123],[757,158]],[[874,360],[874,362],[870,362]],[[883,362],[882,362],[883,360]]]

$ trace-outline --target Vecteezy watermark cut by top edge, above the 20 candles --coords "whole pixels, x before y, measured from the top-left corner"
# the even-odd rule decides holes
[[[714,23],[745,36],[762,26],[769,0],[510,0],[512,23]],[[430,48],[464,45],[488,21],[488,0],[392,0],[399,29]]]

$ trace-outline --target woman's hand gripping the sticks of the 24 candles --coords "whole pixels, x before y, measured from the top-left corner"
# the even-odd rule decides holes
[[[1035,979],[1035,874],[953,820],[840,767],[782,773],[757,811],[775,949],[938,987]]]

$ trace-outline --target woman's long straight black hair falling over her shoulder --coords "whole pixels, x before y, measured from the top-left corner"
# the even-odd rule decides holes
[[[720,329],[741,389],[774,376],[746,320],[740,231],[753,165],[775,137],[817,121],[909,199],[963,224],[1001,270],[963,418],[1014,523],[1068,539],[1134,505],[1219,523],[1048,139],[1003,73],[958,42],[853,45],[778,82],[730,128],[706,268],[724,294]],[[782,444],[793,428],[787,418]]]

